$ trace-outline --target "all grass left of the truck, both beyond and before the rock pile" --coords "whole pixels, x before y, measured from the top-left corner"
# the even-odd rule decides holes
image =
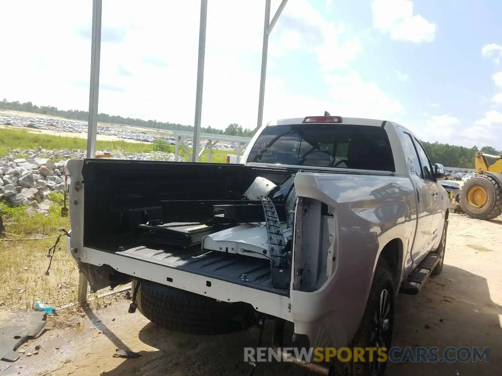
[[[77,137],[61,137],[37,134],[25,130],[0,128],[0,156],[7,149],[86,149],[87,140]],[[96,148],[124,150],[132,153],[163,151],[174,152],[174,146],[158,141],[152,144],[127,141],[97,141]],[[190,150],[191,148],[189,148]],[[191,150],[190,150],[191,151]],[[200,161],[207,161],[205,151]],[[224,163],[226,150],[213,150],[212,162]],[[235,154],[235,151],[233,152]],[[21,155],[20,155],[21,156]],[[180,157],[188,156],[180,148]],[[5,236],[0,238],[0,314],[2,310],[32,309],[37,300],[60,306],[75,302],[78,288],[78,270],[66,250],[64,237],[54,255],[51,271],[45,275],[49,248],[60,234],[59,227],[69,229],[68,217],[61,217],[63,195],[51,193],[52,206],[47,217],[34,214],[30,217],[26,206],[13,207],[7,201],[0,202],[0,215],[5,224]],[[27,240],[37,238],[38,240]],[[45,238],[45,239],[39,239]]]

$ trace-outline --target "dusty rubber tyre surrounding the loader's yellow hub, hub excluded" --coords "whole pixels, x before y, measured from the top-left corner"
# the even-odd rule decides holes
[[[469,204],[469,191],[475,187],[481,186],[486,191],[486,203],[475,208]],[[489,175],[478,175],[473,177],[462,186],[460,191],[460,206],[470,217],[480,220],[490,220],[502,214],[502,189],[498,182]]]

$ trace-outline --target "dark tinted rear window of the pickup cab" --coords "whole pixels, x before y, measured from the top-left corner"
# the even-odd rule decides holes
[[[395,171],[387,132],[367,125],[269,126],[251,148],[247,161]]]

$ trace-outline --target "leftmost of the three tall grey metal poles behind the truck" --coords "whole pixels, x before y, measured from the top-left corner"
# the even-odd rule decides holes
[[[96,157],[97,104],[99,94],[99,61],[101,56],[102,0],[92,1],[91,77],[89,83],[89,122],[87,125],[87,158]]]

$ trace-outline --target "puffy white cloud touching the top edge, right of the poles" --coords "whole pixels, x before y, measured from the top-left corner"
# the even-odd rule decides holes
[[[413,15],[409,0],[374,0],[371,4],[373,26],[397,41],[432,42],[436,25],[420,15]]]

